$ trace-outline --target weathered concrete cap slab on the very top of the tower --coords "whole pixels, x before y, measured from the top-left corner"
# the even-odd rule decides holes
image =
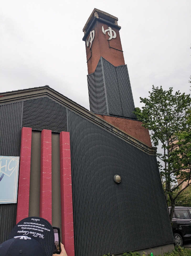
[[[94,19],[94,17],[97,17],[97,18],[99,17],[99,18],[105,19],[105,20],[117,25],[117,21],[118,21],[117,17],[115,17],[109,13],[103,12],[99,9],[94,8],[93,12],[90,14],[90,16],[83,28],[83,32],[87,31],[87,29],[88,29],[89,25],[91,24],[92,20]]]

